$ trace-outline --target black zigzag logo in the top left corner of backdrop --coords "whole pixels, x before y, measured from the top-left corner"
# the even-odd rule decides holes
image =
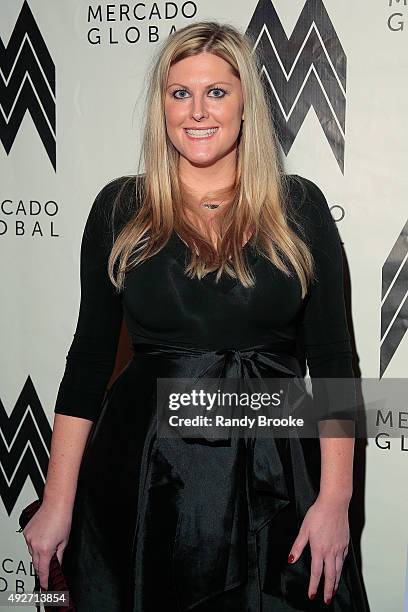
[[[28,110],[55,170],[55,66],[26,0],[7,47],[0,38],[0,70],[0,139],[7,155]]]

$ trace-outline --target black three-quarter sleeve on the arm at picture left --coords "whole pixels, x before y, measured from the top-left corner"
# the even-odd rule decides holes
[[[111,210],[120,179],[103,187],[86,221],[80,251],[81,298],[54,412],[96,420],[113,372],[123,319],[122,297],[108,276]]]

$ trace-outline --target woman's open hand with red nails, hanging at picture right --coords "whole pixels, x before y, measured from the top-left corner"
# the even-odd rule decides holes
[[[312,555],[308,596],[317,592],[324,566],[324,601],[335,595],[344,559],[348,552],[350,529],[348,503],[319,495],[308,509],[290,555],[295,563],[309,541]],[[291,556],[289,555],[289,559]]]

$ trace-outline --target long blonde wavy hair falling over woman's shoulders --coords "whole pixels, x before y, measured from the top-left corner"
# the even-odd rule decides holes
[[[249,242],[256,252],[287,276],[292,276],[287,263],[291,264],[302,287],[302,298],[306,295],[314,274],[313,257],[306,241],[288,223],[291,219],[302,233],[292,216],[273,120],[259,77],[261,66],[252,48],[247,35],[215,21],[188,25],[170,35],[159,48],[148,81],[139,158],[139,168],[143,160],[145,172],[144,176],[138,173],[127,179],[134,183],[137,207],[115,238],[108,262],[109,277],[118,291],[124,287],[126,273],[158,253],[173,232],[189,248],[191,257],[185,269],[188,276],[201,279],[217,270],[216,282],[225,273],[238,278],[245,287],[252,287],[255,279],[246,266],[242,246],[245,232],[251,229]],[[245,112],[237,140],[235,182],[224,191],[205,196],[227,195],[231,200],[221,219],[217,251],[183,214],[189,193],[179,177],[180,154],[168,138],[164,111],[170,67],[203,52],[213,53],[231,66],[241,81]],[[121,193],[123,189],[114,209]]]

